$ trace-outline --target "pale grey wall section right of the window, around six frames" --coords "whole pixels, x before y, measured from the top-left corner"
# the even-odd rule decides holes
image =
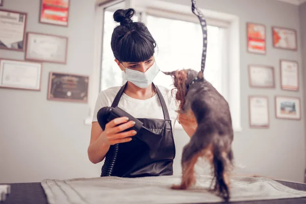
[[[169,3],[190,5],[189,0],[164,0]],[[274,96],[298,96],[303,101],[302,67],[300,66],[300,91],[281,91],[279,80],[279,59],[298,61],[301,65],[301,29],[298,6],[266,0],[202,0],[198,7],[222,13],[233,14],[240,20],[240,84],[241,84],[241,126],[242,132],[234,136],[234,155],[237,164],[244,165],[238,169],[242,173],[257,173],[278,179],[303,182],[305,169],[305,120],[302,104],[302,120],[279,120],[275,118]],[[305,11],[304,11],[305,12]],[[305,17],[303,18],[305,19]],[[247,53],[246,22],[266,25],[267,55]],[[291,52],[272,47],[271,27],[279,26],[296,29],[298,33],[298,51]],[[305,34],[304,34],[305,35]],[[251,89],[248,85],[248,64],[274,66],[276,88]],[[249,128],[248,96],[267,95],[269,97],[270,128],[256,130]],[[177,132],[178,133],[178,132]],[[176,135],[185,140],[183,132]],[[177,139],[179,140],[179,139]]]

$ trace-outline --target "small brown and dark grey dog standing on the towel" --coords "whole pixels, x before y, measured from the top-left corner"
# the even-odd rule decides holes
[[[230,173],[233,167],[233,127],[230,108],[224,97],[203,78],[202,72],[192,69],[164,72],[171,75],[177,90],[179,114],[195,117],[196,130],[182,155],[182,181],[173,189],[188,189],[196,183],[194,165],[205,157],[212,167],[210,190],[226,201],[230,199]],[[200,79],[191,83],[194,79]],[[190,85],[189,85],[190,84]]]

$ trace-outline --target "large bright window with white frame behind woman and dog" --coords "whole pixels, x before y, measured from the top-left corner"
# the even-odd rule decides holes
[[[124,83],[124,73],[114,62],[111,49],[111,35],[117,25],[113,13],[118,8],[131,7],[138,14],[133,20],[144,22],[157,41],[155,58],[162,71],[183,68],[200,70],[202,32],[198,19],[190,12],[190,6],[142,0],[115,0],[100,6],[96,13],[95,69],[89,96],[91,114],[99,91]],[[211,10],[202,12],[208,23],[204,76],[228,101],[234,131],[241,132],[239,17]],[[171,88],[173,82],[171,77],[160,72],[154,83]]]

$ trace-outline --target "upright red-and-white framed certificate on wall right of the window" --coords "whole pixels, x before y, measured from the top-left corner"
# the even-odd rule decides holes
[[[247,50],[249,53],[266,54],[266,27],[263,24],[251,23],[247,27]]]

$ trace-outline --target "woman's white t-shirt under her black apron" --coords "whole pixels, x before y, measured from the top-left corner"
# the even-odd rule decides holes
[[[157,87],[164,97],[173,129],[174,121],[177,116],[177,113],[175,112],[175,110],[177,110],[174,98],[175,93],[173,92],[172,94],[171,90],[167,89],[166,87],[159,85],[157,85]],[[113,100],[115,99],[120,88],[120,86],[111,87],[99,93],[94,108],[92,118],[93,122],[97,121],[97,112],[101,108],[112,106]],[[122,93],[118,107],[135,118],[164,119],[163,109],[157,94],[151,98],[140,100]]]

